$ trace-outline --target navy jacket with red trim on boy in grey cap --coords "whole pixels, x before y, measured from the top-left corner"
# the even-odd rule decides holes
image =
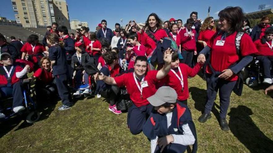
[[[195,137],[195,143],[193,144],[192,152],[197,151],[197,135],[195,124],[192,121],[190,109],[186,104],[177,102],[172,112],[172,121],[169,128],[167,128],[167,117],[166,114],[159,114],[157,111],[153,111],[150,117],[143,126],[143,133],[149,139],[155,139],[167,136],[170,134],[181,135],[184,133],[183,124],[188,124],[192,134]],[[176,129],[176,130],[175,130]]]

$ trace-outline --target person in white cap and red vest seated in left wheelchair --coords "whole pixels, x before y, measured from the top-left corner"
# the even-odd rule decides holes
[[[20,79],[25,76],[30,70],[30,66],[25,68],[13,64],[13,59],[9,53],[0,55],[0,93],[1,99],[13,97],[12,108],[13,112],[17,113],[25,110],[23,106],[23,90]],[[2,113],[3,109],[0,106],[0,118],[5,118]]]

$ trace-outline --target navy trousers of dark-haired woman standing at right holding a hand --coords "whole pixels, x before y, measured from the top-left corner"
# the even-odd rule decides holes
[[[205,105],[204,113],[208,114],[211,112],[211,109],[214,104],[215,97],[219,90],[219,97],[220,97],[220,118],[226,119],[227,109],[230,103],[230,94],[235,87],[236,81],[227,81],[224,79],[218,79],[217,85],[214,91],[209,91],[208,82],[210,79],[210,75],[207,75],[207,103]],[[208,94],[208,93],[213,93]]]

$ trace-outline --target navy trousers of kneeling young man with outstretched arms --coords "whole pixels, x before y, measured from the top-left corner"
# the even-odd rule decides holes
[[[150,113],[153,110],[153,106],[151,104],[137,107],[133,104],[128,110],[127,116],[127,125],[130,129],[130,132],[134,135],[139,134],[142,132],[142,128],[150,116]]]

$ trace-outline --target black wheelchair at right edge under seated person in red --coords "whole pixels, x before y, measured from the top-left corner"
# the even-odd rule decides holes
[[[273,67],[271,66],[271,75],[273,75]],[[243,69],[245,83],[248,87],[256,87],[262,83],[264,79],[262,63],[255,59],[248,67]]]

